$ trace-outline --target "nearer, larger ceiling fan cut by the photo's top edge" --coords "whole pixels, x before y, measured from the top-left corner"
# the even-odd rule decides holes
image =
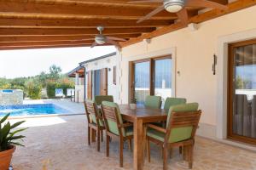
[[[154,9],[151,13],[143,16],[137,23],[143,22],[144,20],[150,19],[155,14],[160,13],[162,10],[168,11],[169,13],[176,13],[177,18],[185,25],[189,24],[189,15],[185,7],[204,7],[204,8],[218,8],[227,9],[228,7],[220,4],[214,3],[207,0],[142,0],[142,1],[131,1],[128,3],[163,3],[160,7]]]

